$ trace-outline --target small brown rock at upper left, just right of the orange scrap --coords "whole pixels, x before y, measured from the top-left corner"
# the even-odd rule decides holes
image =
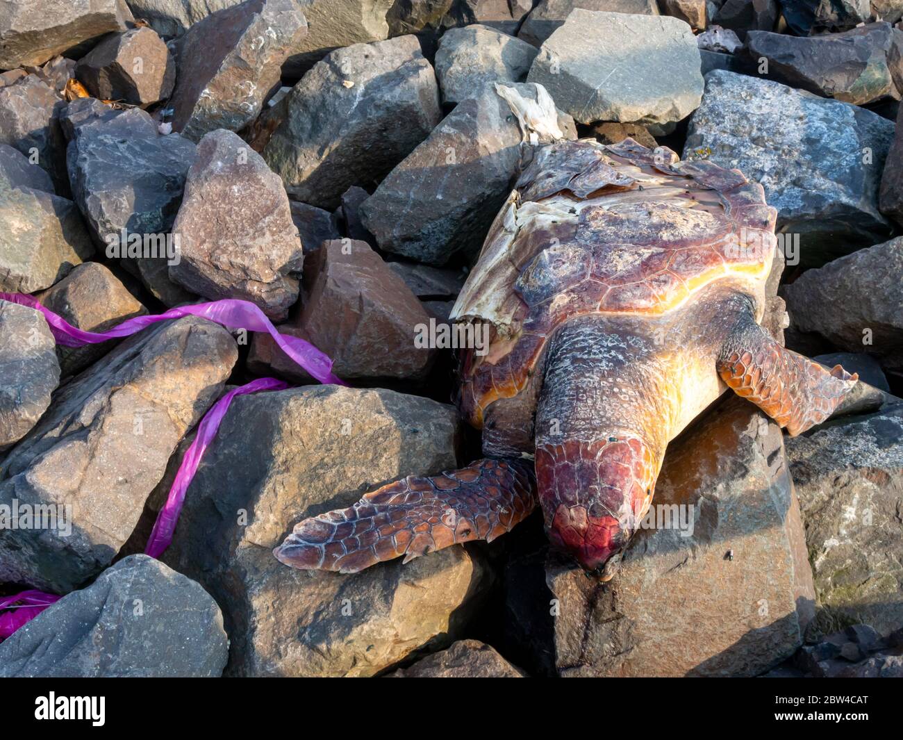
[[[75,73],[95,98],[146,106],[169,98],[175,61],[153,29],[139,26],[98,43]]]

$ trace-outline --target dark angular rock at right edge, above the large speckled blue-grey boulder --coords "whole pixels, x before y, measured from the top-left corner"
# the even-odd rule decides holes
[[[753,31],[747,47],[753,59],[768,60],[769,79],[864,105],[885,96],[899,98],[889,67],[894,33],[890,23],[813,38]]]

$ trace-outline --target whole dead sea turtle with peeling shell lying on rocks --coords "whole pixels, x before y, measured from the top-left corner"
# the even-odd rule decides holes
[[[669,149],[538,149],[452,312],[492,327],[461,371],[485,459],[303,520],[275,556],[354,573],[491,541],[538,502],[553,546],[595,572],[645,516],[668,442],[726,388],[791,435],[824,421],[857,376],[759,325],[775,219],[758,183]]]

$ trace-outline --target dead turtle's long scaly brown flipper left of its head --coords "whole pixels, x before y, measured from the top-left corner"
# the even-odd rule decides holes
[[[388,483],[349,509],[298,523],[273,554],[302,570],[357,573],[459,542],[491,542],[536,505],[533,463],[478,460],[461,470]]]

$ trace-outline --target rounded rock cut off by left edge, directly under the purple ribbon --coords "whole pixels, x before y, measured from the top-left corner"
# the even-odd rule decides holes
[[[60,382],[55,342],[44,317],[0,301],[0,450],[22,439]]]

